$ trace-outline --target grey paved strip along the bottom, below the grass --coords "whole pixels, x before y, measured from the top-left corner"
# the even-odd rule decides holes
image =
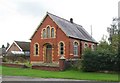
[[[32,78],[24,76],[3,76],[2,81],[32,81],[33,83],[118,83],[118,82],[96,82],[89,80],[71,80],[71,79],[55,79],[55,78]],[[25,82],[25,83],[26,83]],[[31,82],[30,82],[31,83]]]

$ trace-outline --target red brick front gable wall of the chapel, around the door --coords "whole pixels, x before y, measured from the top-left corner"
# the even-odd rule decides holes
[[[51,27],[54,27],[56,29],[56,38],[49,38],[49,39],[41,39],[41,31],[43,28],[45,28],[47,25],[50,25]],[[31,61],[43,61],[44,56],[43,56],[43,46],[46,43],[50,43],[53,47],[53,56],[52,56],[52,61],[58,61],[60,56],[58,55],[58,43],[60,41],[64,41],[65,43],[65,58],[69,57],[69,38],[64,34],[64,32],[52,21],[52,19],[47,16],[44,22],[42,23],[41,26],[39,26],[37,32],[33,36],[31,40],[31,45],[30,45],[30,58]],[[39,56],[34,56],[34,44],[39,43],[40,45],[40,50]]]

